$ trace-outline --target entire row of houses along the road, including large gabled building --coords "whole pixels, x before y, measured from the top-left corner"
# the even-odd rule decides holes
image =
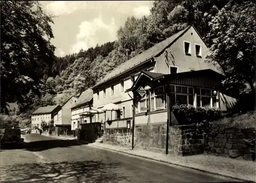
[[[188,26],[120,64],[79,98],[71,97],[62,106],[38,108],[32,113],[32,127],[40,128],[41,121],[51,119],[55,126],[71,126],[71,130],[93,122],[105,128],[130,128],[133,120],[135,125],[166,123],[167,108],[175,103],[226,111],[237,101],[221,90],[225,76],[219,65],[204,62],[208,53],[194,26]],[[82,115],[111,102],[120,110]],[[109,120],[111,125],[104,123]]]

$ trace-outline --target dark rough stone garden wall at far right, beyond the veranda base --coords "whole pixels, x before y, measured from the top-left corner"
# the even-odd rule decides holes
[[[245,140],[255,138],[255,129],[215,126],[204,138],[204,153],[252,161],[255,153]]]

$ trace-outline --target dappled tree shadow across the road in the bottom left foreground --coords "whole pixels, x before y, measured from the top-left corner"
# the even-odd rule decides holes
[[[117,174],[121,163],[100,161],[17,164],[1,168],[2,182],[119,182],[127,177]]]

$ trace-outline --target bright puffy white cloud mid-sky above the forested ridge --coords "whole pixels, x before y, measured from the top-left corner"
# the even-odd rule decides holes
[[[117,39],[116,32],[118,27],[115,25],[115,19],[111,18],[110,24],[102,21],[102,16],[94,18],[92,21],[82,21],[79,25],[79,33],[76,35],[76,43],[70,49],[71,53],[77,53],[81,50],[87,50],[95,47],[96,44],[114,41]]]

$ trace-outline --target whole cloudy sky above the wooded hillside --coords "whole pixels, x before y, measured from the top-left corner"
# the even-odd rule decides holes
[[[41,1],[51,15],[56,56],[77,53],[117,39],[127,17],[149,15],[153,1]]]

